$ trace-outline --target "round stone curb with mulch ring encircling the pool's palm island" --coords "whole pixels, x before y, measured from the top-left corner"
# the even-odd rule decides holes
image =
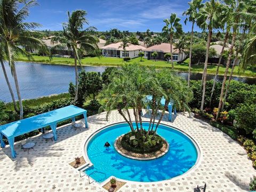
[[[127,158],[140,160],[140,161],[148,161],[148,160],[152,160],[152,159],[156,159],[156,158],[164,156],[169,151],[169,148],[170,148],[169,143],[162,137],[162,139],[164,140],[164,144],[161,149],[166,148],[162,153],[157,154],[156,156],[153,156],[153,154],[158,153],[159,151],[162,151],[161,149],[158,151],[155,151],[153,153],[145,153],[145,154],[134,153],[132,151],[127,151],[126,149],[122,148],[121,143],[119,143],[119,142],[121,142],[124,135],[125,134],[122,134],[118,138],[116,138],[116,140],[114,142],[114,147],[115,147],[117,153],[119,153],[120,155],[123,155],[124,157],[127,157]],[[129,154],[131,154],[131,155],[129,155]],[[138,156],[144,155],[145,157],[136,157],[136,155],[138,155]],[[147,157],[147,156],[153,156],[153,157]]]

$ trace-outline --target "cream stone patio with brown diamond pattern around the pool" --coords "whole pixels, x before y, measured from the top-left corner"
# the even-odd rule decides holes
[[[103,126],[123,122],[123,118],[113,111],[106,121],[106,113],[88,117],[89,129],[70,130],[70,124],[57,129],[58,141],[45,143],[39,134],[30,140],[36,143],[35,151],[29,154],[15,143],[17,158],[10,158],[10,148],[0,150],[0,191],[106,191],[98,183],[89,185],[87,177],[79,177],[79,172],[68,163],[82,156],[84,140]],[[84,121],[83,119],[81,121]],[[145,115],[143,121],[149,121]],[[256,175],[252,162],[245,150],[225,133],[209,124],[178,114],[173,122],[162,123],[185,131],[198,143],[201,161],[196,168],[181,177],[157,183],[127,182],[119,191],[194,191],[197,185],[207,183],[206,191],[247,191],[250,177]]]

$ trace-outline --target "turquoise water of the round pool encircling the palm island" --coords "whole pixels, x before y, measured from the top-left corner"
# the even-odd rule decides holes
[[[143,127],[147,129],[148,123],[143,123]],[[85,173],[97,182],[102,182],[111,175],[130,181],[161,181],[187,172],[197,161],[194,143],[185,134],[165,125],[159,125],[157,130],[170,145],[170,150],[164,156],[149,161],[126,158],[117,153],[114,141],[119,135],[129,131],[129,125],[121,123],[95,134],[87,145],[87,155],[93,167],[86,169]],[[106,141],[111,145],[108,150],[103,147]]]

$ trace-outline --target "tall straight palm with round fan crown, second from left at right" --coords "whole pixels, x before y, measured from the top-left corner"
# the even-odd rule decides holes
[[[206,55],[205,55],[205,62],[204,62],[204,73],[203,73],[203,95],[201,101],[201,108],[200,110],[204,110],[204,97],[205,97],[205,88],[206,88],[206,76],[207,76],[207,65],[208,65],[208,58],[209,58],[209,50],[210,50],[210,43],[212,38],[212,31],[215,28],[219,27],[219,14],[220,14],[220,2],[211,0],[206,2],[204,7],[199,10],[199,17],[198,23],[203,29],[208,30],[208,37],[207,37],[207,44],[206,44]]]

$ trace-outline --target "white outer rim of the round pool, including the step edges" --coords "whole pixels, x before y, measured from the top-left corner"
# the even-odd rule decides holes
[[[134,121],[133,121],[134,122]],[[145,123],[150,123],[149,121],[142,121],[142,123],[145,122]],[[101,127],[100,129],[98,129],[97,131],[94,131],[89,137],[87,137],[84,142],[82,142],[82,154],[83,154],[83,157],[85,159],[85,161],[87,160],[88,164],[86,166],[82,166],[81,169],[79,171],[84,171],[86,170],[88,167],[90,166],[93,166],[93,163],[90,161],[89,157],[87,156],[87,153],[85,153],[85,149],[87,149],[87,146],[89,144],[89,141],[97,134],[99,133],[100,131],[104,130],[104,129],[107,129],[108,127],[110,126],[113,126],[113,125],[116,125],[116,124],[126,124],[127,122],[125,121],[121,121],[121,122],[116,122],[116,123],[112,123],[112,124],[109,124],[109,125],[106,125],[106,126],[103,126]],[[185,175],[187,175],[188,173],[192,172],[192,171],[195,171],[196,167],[198,167],[202,160],[203,160],[203,153],[202,153],[202,150],[201,150],[201,146],[198,144],[198,142],[192,138],[189,134],[187,134],[185,131],[182,131],[181,129],[175,127],[175,126],[172,126],[172,125],[168,125],[168,124],[164,124],[164,123],[160,123],[161,125],[164,125],[164,126],[167,126],[167,127],[171,127],[172,129],[174,130],[177,130],[179,132],[181,132],[182,134],[185,134],[194,144],[194,146],[196,147],[196,150],[197,150],[197,159],[196,159],[196,163],[190,167],[190,169],[188,171],[186,171],[185,173],[183,174],[180,174],[176,177],[173,177],[171,179],[165,179],[165,180],[161,180],[161,181],[146,181],[146,182],[142,182],[142,181],[131,181],[131,180],[125,180],[125,179],[121,179],[121,178],[117,178],[115,176],[111,176],[111,177],[114,177],[120,181],[123,181],[123,182],[126,182],[126,183],[134,183],[134,184],[141,184],[141,185],[145,185],[147,183],[154,183],[154,184],[158,184],[158,183],[161,183],[163,181],[173,181],[173,180],[177,180]],[[86,168],[87,167],[87,168]],[[84,175],[87,175],[86,173],[83,172]],[[87,175],[88,176],[88,175]],[[93,178],[91,178],[95,183],[97,183],[99,186],[103,186],[102,183],[105,183],[105,181],[109,178],[107,178],[106,180],[102,181],[101,183],[95,181]]]

